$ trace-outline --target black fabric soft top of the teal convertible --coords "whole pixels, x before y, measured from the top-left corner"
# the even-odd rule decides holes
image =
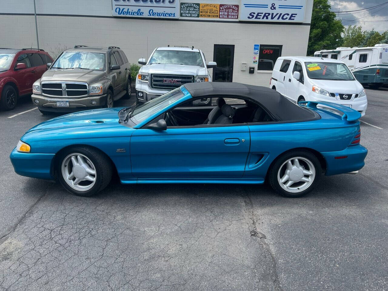
[[[187,83],[184,87],[194,98],[201,96],[217,96],[252,99],[258,102],[264,109],[267,109],[268,113],[270,113],[277,121],[303,121],[320,118],[314,111],[306,107],[298,106],[279,92],[266,87],[221,82]]]

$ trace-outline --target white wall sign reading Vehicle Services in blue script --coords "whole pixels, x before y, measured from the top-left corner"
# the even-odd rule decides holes
[[[178,0],[112,0],[113,16],[178,18]]]

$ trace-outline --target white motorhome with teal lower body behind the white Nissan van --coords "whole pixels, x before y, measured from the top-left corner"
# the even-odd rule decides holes
[[[335,50],[320,50],[315,57],[336,59],[345,62],[362,85],[377,89],[388,83],[388,44],[374,47],[338,47]]]

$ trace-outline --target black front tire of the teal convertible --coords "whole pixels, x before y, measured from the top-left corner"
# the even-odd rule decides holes
[[[94,185],[86,190],[86,191],[78,191],[73,189],[68,182],[65,181],[65,178],[62,174],[62,163],[64,159],[68,157],[70,154],[82,154],[86,156],[93,163],[95,168],[95,183]],[[91,147],[71,147],[66,149],[60,153],[58,158],[56,159],[55,170],[57,173],[57,177],[59,182],[61,182],[62,186],[69,191],[71,194],[76,196],[88,197],[97,194],[101,190],[105,189],[105,187],[109,184],[112,179],[113,166],[110,159],[102,152],[93,149]]]

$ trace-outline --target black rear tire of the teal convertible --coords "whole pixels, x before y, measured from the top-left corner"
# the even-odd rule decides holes
[[[308,184],[308,187],[306,187],[306,189],[304,189],[303,191],[300,191],[300,192],[286,191],[286,189],[284,189],[280,185],[280,182],[278,180],[278,174],[281,174],[281,171],[285,166],[283,164],[292,158],[307,159],[308,161],[310,161],[310,163],[314,167],[314,172],[315,172],[315,176],[313,178],[314,180],[312,180],[312,182],[309,182],[310,184]],[[304,160],[299,159],[299,161],[300,161],[300,165],[302,165],[305,170],[311,170],[311,169],[307,169],[309,166]],[[280,172],[279,172],[279,169],[281,169]],[[269,178],[270,185],[272,186],[272,188],[274,188],[274,190],[276,192],[278,192],[279,194],[281,194],[282,196],[285,196],[285,197],[296,198],[296,197],[304,196],[308,192],[310,192],[314,189],[315,185],[317,185],[317,183],[319,181],[321,172],[322,172],[322,167],[319,163],[318,158],[314,154],[312,154],[311,152],[308,152],[308,151],[291,151],[291,152],[286,152],[285,154],[283,154],[282,156],[280,156],[279,158],[276,159],[275,163],[270,168],[268,178]],[[279,175],[279,177],[280,177],[280,175]],[[303,178],[304,177],[305,177],[305,175],[303,175]],[[294,187],[297,188],[297,189],[295,189],[295,191],[298,191],[298,189],[299,189],[298,183],[300,184],[303,182],[301,182],[301,181],[294,182],[294,184],[295,184]]]

